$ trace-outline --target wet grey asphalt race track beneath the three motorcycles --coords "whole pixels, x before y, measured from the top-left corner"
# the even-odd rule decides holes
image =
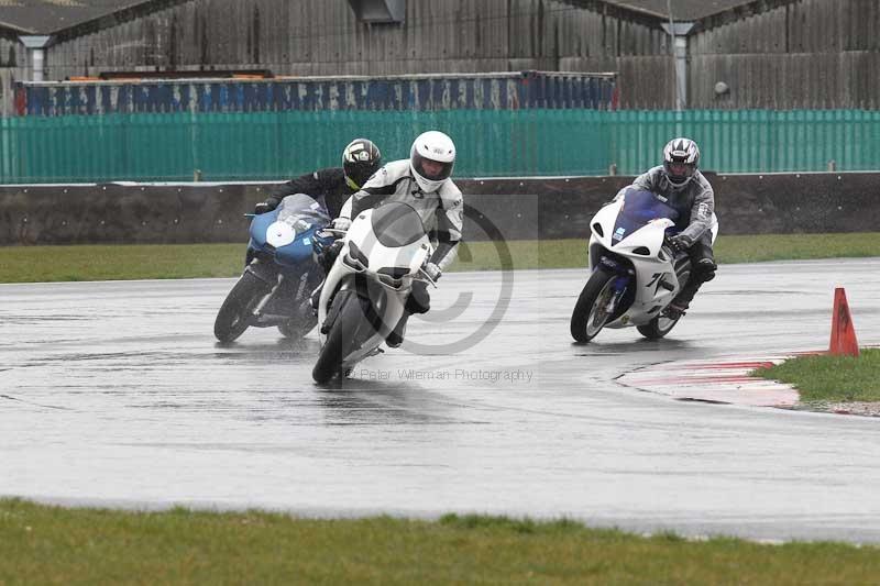
[[[215,341],[231,279],[0,286],[0,495],[880,542],[880,420],[615,380],[822,350],[835,286],[876,344],[879,266],[726,265],[668,340],[606,330],[587,345],[568,331],[583,272],[516,273],[509,297],[501,273],[451,274],[429,314],[451,321],[410,322],[420,354],[369,358],[332,388],[311,382],[315,333]],[[509,306],[486,325],[499,296]],[[475,332],[487,336],[461,342]]]

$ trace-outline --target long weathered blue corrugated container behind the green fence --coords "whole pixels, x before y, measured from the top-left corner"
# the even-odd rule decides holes
[[[615,77],[521,71],[386,78],[20,82],[20,115],[615,107]]]

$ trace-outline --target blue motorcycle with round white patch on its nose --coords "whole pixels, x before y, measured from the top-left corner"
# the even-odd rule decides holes
[[[246,266],[213,324],[219,341],[232,342],[251,325],[277,327],[285,338],[301,338],[315,327],[310,296],[323,278],[315,253],[334,241],[323,232],[329,223],[327,209],[305,194],[252,215]]]

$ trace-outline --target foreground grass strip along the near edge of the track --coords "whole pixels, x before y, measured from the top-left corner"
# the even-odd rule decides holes
[[[571,521],[306,520],[0,500],[0,584],[869,584],[880,551]]]

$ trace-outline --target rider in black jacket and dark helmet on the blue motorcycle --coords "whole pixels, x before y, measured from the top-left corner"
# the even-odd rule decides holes
[[[342,166],[318,169],[290,179],[254,207],[254,213],[265,213],[278,207],[294,194],[306,194],[323,203],[330,218],[339,217],[342,206],[352,194],[382,166],[382,153],[372,141],[355,139],[342,152]]]

